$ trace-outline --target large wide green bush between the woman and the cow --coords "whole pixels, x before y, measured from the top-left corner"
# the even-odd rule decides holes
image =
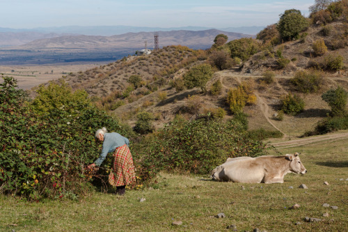
[[[249,139],[239,123],[199,119],[173,121],[136,144],[136,157],[158,171],[207,174],[227,157],[264,153],[264,144]],[[146,164],[145,164],[146,163]]]

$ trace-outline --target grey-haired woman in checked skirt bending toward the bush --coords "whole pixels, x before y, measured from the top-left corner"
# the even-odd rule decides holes
[[[103,141],[102,153],[93,164],[88,165],[88,168],[100,167],[106,155],[113,152],[115,161],[109,175],[109,183],[116,186],[116,194],[124,195],[126,185],[135,180],[133,158],[128,148],[129,140],[116,132],[107,133],[105,127],[97,130],[95,137]]]

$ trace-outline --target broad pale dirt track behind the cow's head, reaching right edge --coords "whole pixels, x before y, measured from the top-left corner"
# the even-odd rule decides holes
[[[348,132],[317,135],[314,137],[306,137],[303,139],[294,139],[290,141],[279,141],[279,142],[270,143],[269,145],[275,146],[276,148],[292,148],[294,146],[308,145],[318,141],[340,140],[340,139],[348,139]]]

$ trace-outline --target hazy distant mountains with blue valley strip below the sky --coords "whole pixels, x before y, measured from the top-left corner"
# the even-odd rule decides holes
[[[1,38],[0,33],[0,45]],[[6,32],[12,36],[7,42],[15,42],[16,46],[0,49],[0,65],[24,65],[47,63],[71,63],[71,62],[107,62],[115,61],[134,54],[136,50],[143,49],[145,43],[152,49],[155,47],[154,31],[123,33],[114,36],[86,36],[78,34],[42,34],[38,32]],[[32,34],[31,34],[32,33]],[[235,33],[209,29],[204,31],[157,31],[159,34],[159,47],[168,45],[183,45],[192,49],[207,49],[214,43],[214,38],[223,33],[228,40],[255,37],[244,33]],[[23,36],[22,39],[20,36]],[[18,43],[24,44],[19,45]]]

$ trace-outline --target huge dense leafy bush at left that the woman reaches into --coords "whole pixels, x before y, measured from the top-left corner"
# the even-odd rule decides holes
[[[86,165],[99,156],[101,149],[95,141],[95,130],[107,127],[125,137],[130,132],[115,118],[80,102],[52,107],[56,101],[48,101],[46,107],[50,110],[38,115],[35,112],[42,112],[41,107],[36,108],[40,105],[23,104],[21,91],[15,86],[16,81],[9,77],[0,84],[1,192],[38,200],[76,198],[88,191],[93,173],[86,170]],[[45,95],[51,87],[42,86],[40,93]],[[62,88],[61,94],[66,91]],[[56,99],[63,97],[56,95]],[[110,171],[112,162],[111,156],[100,171]]]

